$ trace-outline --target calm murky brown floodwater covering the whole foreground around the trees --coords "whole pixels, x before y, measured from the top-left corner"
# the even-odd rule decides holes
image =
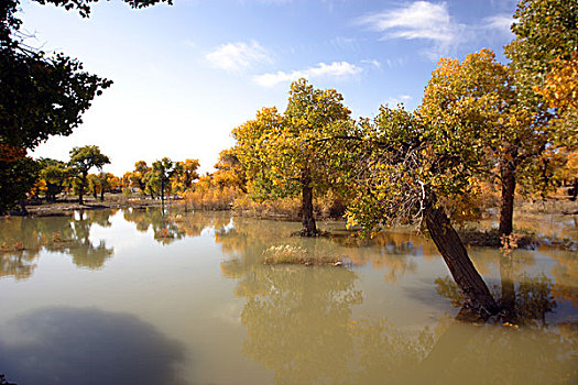
[[[508,316],[465,323],[408,231],[159,209],[0,221],[0,373],[17,384],[576,384],[578,257],[470,255]],[[566,233],[576,233],[571,229]],[[552,227],[555,228],[555,227]],[[548,228],[549,229],[549,228]],[[343,266],[264,265],[271,248]]]

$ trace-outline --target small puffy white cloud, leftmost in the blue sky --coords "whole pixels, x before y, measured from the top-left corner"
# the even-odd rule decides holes
[[[228,43],[206,55],[215,67],[230,73],[239,73],[250,68],[255,63],[271,63],[271,58],[258,42],[250,44],[238,42]]]

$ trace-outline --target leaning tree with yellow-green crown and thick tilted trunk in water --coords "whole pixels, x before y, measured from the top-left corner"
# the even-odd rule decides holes
[[[358,191],[348,209],[349,224],[367,230],[399,221],[424,222],[464,294],[466,305],[493,315],[498,306],[451,226],[444,204],[467,200],[482,154],[472,132],[429,125],[403,107],[382,107],[373,122],[362,121],[352,138],[350,168]]]

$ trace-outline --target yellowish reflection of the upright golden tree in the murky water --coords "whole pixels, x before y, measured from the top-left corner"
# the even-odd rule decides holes
[[[239,274],[239,265],[223,264],[226,274]],[[241,275],[236,293],[247,298],[244,354],[274,370],[279,383],[342,378],[353,349],[351,306],[362,301],[356,275],[343,268],[263,265]]]

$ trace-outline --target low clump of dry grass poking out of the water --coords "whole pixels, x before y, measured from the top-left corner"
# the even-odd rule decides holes
[[[271,246],[263,252],[265,255],[264,264],[266,265],[332,265],[341,266],[343,261],[340,256],[328,254],[312,254],[301,246],[288,244]]]

